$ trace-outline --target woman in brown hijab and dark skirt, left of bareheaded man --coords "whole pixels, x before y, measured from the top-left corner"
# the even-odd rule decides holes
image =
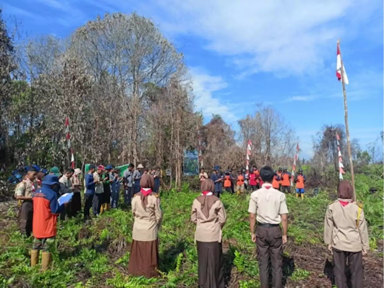
[[[192,205],[191,221],[196,224],[199,287],[224,288],[222,227],[227,220],[223,203],[214,196],[215,184],[206,179],[202,194]]]

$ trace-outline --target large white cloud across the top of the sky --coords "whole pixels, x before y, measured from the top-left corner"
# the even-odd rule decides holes
[[[152,0],[145,7],[152,9],[147,13],[162,30],[199,36],[207,41],[207,49],[233,58],[232,66],[241,70],[242,78],[258,72],[308,74],[323,68],[337,38],[356,34],[361,27],[355,25],[353,32],[347,27],[366,23],[379,4],[377,0]]]

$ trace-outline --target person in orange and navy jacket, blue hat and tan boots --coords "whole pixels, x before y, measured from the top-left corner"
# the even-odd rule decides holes
[[[57,200],[60,190],[59,178],[56,175],[46,175],[40,189],[33,193],[33,248],[31,251],[31,266],[39,262],[41,255],[41,271],[46,271],[52,262],[50,247],[55,243],[57,216],[64,209]]]

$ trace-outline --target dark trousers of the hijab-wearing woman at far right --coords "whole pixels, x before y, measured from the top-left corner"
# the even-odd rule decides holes
[[[348,259],[349,271],[351,271],[352,288],[364,287],[364,271],[362,267],[361,252],[345,252],[337,249],[333,250],[333,272],[335,275],[335,284],[338,288],[347,288],[346,262]]]

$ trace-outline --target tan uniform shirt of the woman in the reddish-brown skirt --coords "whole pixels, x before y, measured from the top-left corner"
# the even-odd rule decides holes
[[[134,217],[132,239],[136,241],[156,240],[157,231],[161,226],[160,199],[154,195],[149,195],[147,199],[146,209],[142,207],[139,195],[134,196],[132,199],[132,214]]]

